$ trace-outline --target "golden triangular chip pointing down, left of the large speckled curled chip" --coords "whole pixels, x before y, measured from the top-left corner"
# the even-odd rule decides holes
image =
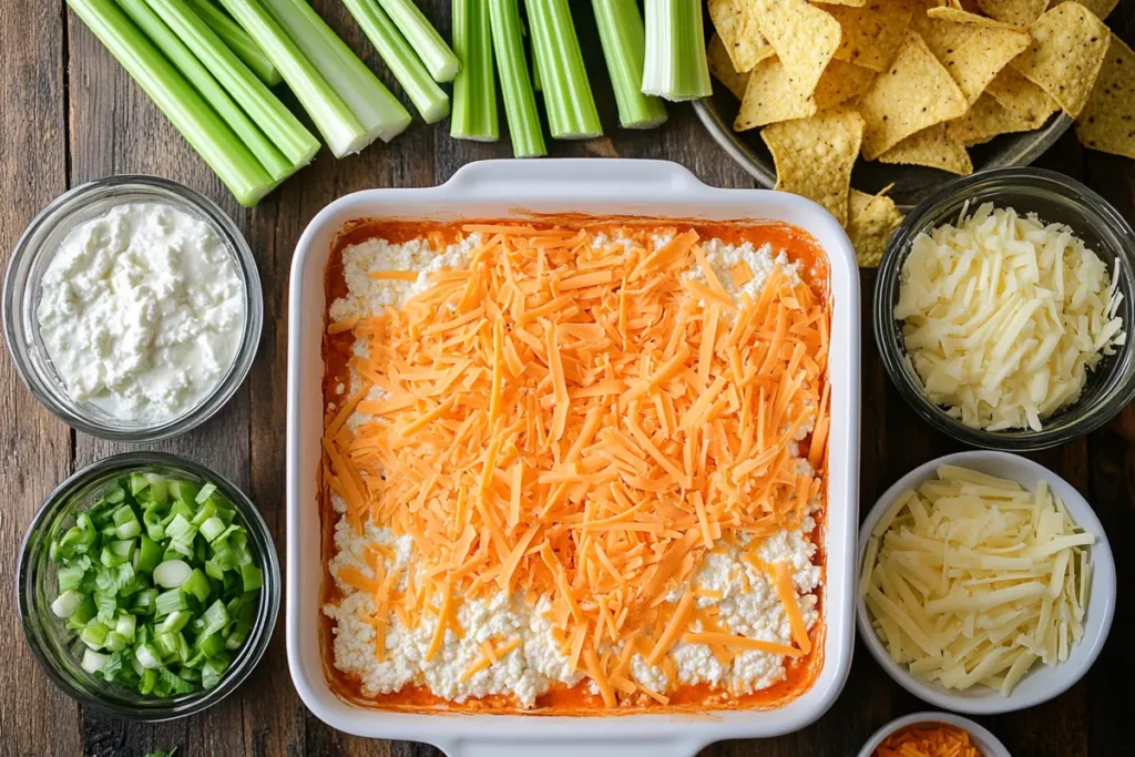
[[[958,23],[940,17],[916,17],[911,27],[950,72],[969,103],[981,96],[998,72],[1020,54],[1031,40],[1024,30]]]

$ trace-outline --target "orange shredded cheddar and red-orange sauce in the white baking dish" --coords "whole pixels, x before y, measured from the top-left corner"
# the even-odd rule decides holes
[[[598,232],[645,241],[663,228],[672,241],[657,250],[590,243]],[[806,691],[823,664],[823,624],[806,630],[784,564],[762,569],[790,619],[791,646],[718,628],[696,607],[691,578],[718,540],[751,535],[755,558],[760,537],[798,527],[806,503],[824,496],[830,323],[815,242],[782,225],[363,222],[337,239],[328,302],[345,294],[340,252],[350,244],[428,237],[443,249],[473,232],[482,243],[468,268],[439,271],[398,309],[328,325],[323,387],[337,407],[325,424],[325,561],[334,555],[336,491],[356,528],[373,521],[411,535],[414,560],[428,569],[423,586],[403,592],[380,561],[375,575],[340,572],[340,581],[375,597],[379,612],[368,622],[381,631],[392,612],[411,622],[434,614],[429,658],[447,628],[460,631],[463,598],[549,598],[563,653],[598,693],[586,680],[554,685],[526,713],[776,707]],[[774,270],[757,300],[738,306],[708,266],[705,281],[679,275],[704,261],[699,242],[708,238],[785,250],[802,263],[802,280]],[[734,285],[751,277],[743,264],[731,275]],[[352,356],[356,338],[369,340],[365,358]],[[362,390],[336,394],[352,369]],[[382,398],[365,399],[375,386]],[[356,409],[376,420],[353,432],[345,421]],[[799,454],[814,476],[797,471],[788,452],[813,418]],[[817,520],[812,538],[822,546],[822,512]],[[681,600],[666,602],[675,588],[683,588]],[[323,594],[340,598],[326,572]],[[333,621],[323,623],[325,667],[346,699],[401,709],[518,708],[499,696],[447,703],[422,687],[364,696],[331,664]],[[679,640],[707,644],[718,658],[747,648],[784,655],[788,676],[741,697],[705,685],[654,692],[632,682],[630,651],[665,667]],[[488,644],[466,675],[510,644]],[[628,654],[609,651],[615,644]]]

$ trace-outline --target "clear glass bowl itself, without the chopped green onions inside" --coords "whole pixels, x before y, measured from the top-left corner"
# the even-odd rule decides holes
[[[174,473],[192,481],[209,480],[233,503],[249,542],[259,556],[263,586],[257,619],[233,664],[217,688],[209,691],[159,699],[135,689],[94,678],[81,666],[82,647],[73,631],[51,612],[57,591],[57,566],[49,556],[53,538],[75,522],[99,494],[116,478],[131,471]],[[101,460],[78,471],[59,485],[35,514],[20,548],[16,573],[16,594],[24,637],[48,678],[65,693],[84,706],[96,707],[116,717],[136,721],[167,721],[200,713],[232,693],[260,662],[280,603],[280,572],[268,527],[252,502],[224,477],[184,457],[153,452],[133,452]]]

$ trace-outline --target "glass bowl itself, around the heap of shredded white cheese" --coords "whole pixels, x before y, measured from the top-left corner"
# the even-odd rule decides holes
[[[1118,260],[1118,288],[1123,293],[1118,316],[1124,329],[1135,328],[1135,233],[1108,202],[1086,186],[1054,171],[1037,168],[1003,168],[956,179],[915,208],[894,233],[875,279],[873,304],[875,342],[883,365],[899,394],[926,422],[970,446],[1010,452],[1043,449],[1063,444],[1100,428],[1135,397],[1135,339],[1116,347],[1090,371],[1079,398],[1043,421],[1040,431],[1011,429],[985,431],[970,428],[933,404],[907,360],[902,323],[894,319],[899,275],[914,238],[958,219],[964,210],[984,202],[1011,207],[1019,213],[1035,212],[1041,220],[1060,222],[1113,269]]]

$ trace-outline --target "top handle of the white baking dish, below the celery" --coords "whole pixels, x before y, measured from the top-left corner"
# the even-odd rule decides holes
[[[565,187],[585,187],[586,196],[625,199],[644,191],[688,192],[705,185],[683,166],[669,160],[623,158],[540,158],[479,160],[457,169],[446,190],[477,199],[563,195]]]

